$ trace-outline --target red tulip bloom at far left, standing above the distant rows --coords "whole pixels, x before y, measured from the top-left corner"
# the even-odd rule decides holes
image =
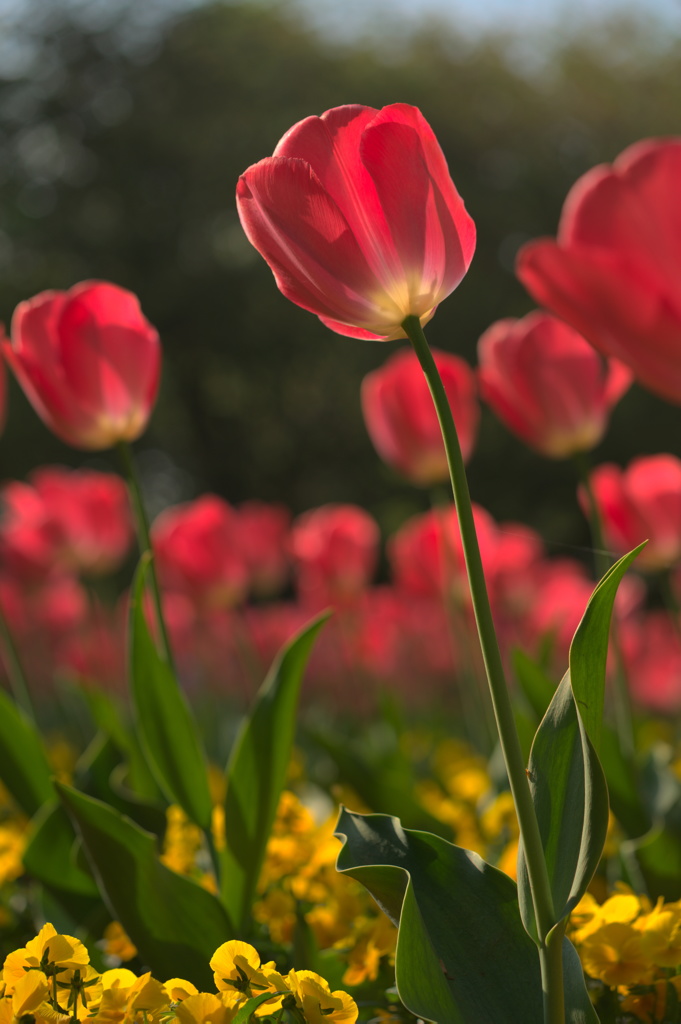
[[[131,292],[107,282],[41,292],[16,307],[2,348],[38,415],[67,443],[96,451],[144,430],[161,349]]]

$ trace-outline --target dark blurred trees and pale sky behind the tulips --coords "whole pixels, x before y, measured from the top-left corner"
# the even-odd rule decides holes
[[[675,0],[3,0],[0,319],[88,278],[139,295],[165,351],[138,444],[155,511],[202,490],[294,512],[357,502],[389,531],[429,502],[381,466],[361,420],[359,382],[394,345],[333,335],[280,295],[241,230],[239,174],[308,114],[418,104],[479,238],[428,335],[474,364],[494,319],[533,307],[515,253],[555,233],[579,175],[679,132],[680,72]],[[635,387],[597,459],[679,454],[680,422]],[[0,477],[45,462],[108,464],[60,444],[12,386]],[[587,543],[571,467],[490,413],[470,478],[550,550]]]

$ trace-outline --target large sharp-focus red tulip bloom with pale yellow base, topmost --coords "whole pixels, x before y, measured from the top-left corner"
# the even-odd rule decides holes
[[[249,241],[281,292],[351,338],[403,338],[465,274],[475,225],[415,106],[336,106],[241,176]]]

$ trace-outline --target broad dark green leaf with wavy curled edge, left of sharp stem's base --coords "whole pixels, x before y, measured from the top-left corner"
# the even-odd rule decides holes
[[[537,948],[515,884],[475,853],[386,814],[343,810],[338,869],[399,925],[395,976],[412,1013],[440,1024],[541,1024]]]

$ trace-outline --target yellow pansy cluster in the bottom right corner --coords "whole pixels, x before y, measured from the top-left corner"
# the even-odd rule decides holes
[[[603,903],[587,893],[570,921],[585,973],[616,991],[621,1009],[645,1024],[668,1019],[681,997],[681,900],[652,906],[625,886]],[[676,1019],[676,1018],[673,1018]]]

